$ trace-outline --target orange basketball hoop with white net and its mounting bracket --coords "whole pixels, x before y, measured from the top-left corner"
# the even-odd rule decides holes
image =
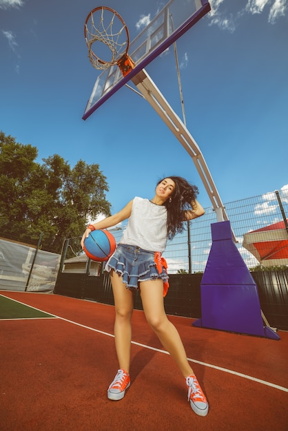
[[[89,59],[95,69],[106,70],[112,65],[118,65],[123,76],[133,69],[134,62],[127,54],[127,25],[116,10],[107,6],[93,9],[86,18],[84,36]],[[95,48],[99,54],[95,54]]]

